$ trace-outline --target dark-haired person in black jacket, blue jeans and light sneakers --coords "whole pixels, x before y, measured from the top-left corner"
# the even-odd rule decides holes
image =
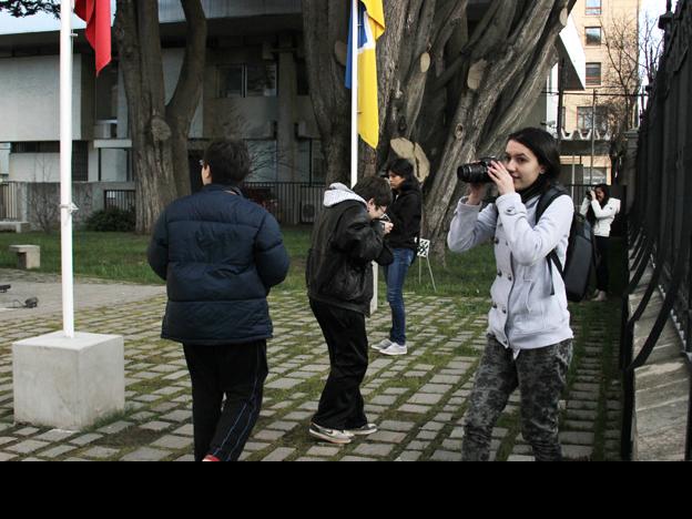
[[[394,224],[387,244],[394,252],[394,263],[385,267],[387,302],[391,308],[391,330],[389,338],[373,349],[390,357],[408,354],[406,345],[406,306],[404,284],[408,269],[418,253],[420,221],[423,218],[423,193],[416,179],[414,166],[405,160],[395,161],[389,167],[389,183],[394,192],[394,203],[387,216]]]

